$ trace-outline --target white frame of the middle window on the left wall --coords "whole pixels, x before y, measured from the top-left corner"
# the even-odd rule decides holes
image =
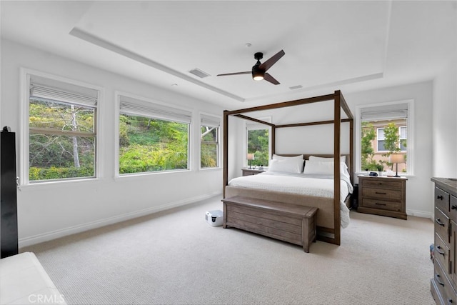
[[[121,96],[126,97],[127,99],[133,99],[139,101],[139,103],[151,103],[157,106],[166,107],[169,109],[176,109],[177,112],[186,111],[191,114],[191,121],[189,121],[188,126],[188,139],[187,139],[187,169],[172,169],[172,170],[165,170],[165,171],[144,171],[139,173],[129,173],[129,174],[120,174],[119,172],[119,161],[120,161],[120,151],[119,151],[119,119],[122,113],[121,111]],[[182,106],[164,103],[162,101],[158,101],[156,99],[149,99],[144,96],[137,96],[135,94],[129,94],[122,91],[115,91],[115,111],[116,111],[116,119],[114,120],[114,130],[115,130],[115,141],[114,141],[114,178],[115,179],[123,179],[127,177],[136,177],[136,176],[148,176],[148,175],[157,175],[157,174],[171,174],[171,173],[179,173],[179,172],[187,172],[192,170],[192,141],[193,139],[193,119],[192,119],[192,109],[188,109]],[[139,114],[136,114],[140,116]],[[150,117],[145,115],[144,117]],[[151,119],[159,119],[163,121],[167,121],[166,119],[161,118],[151,118]]]

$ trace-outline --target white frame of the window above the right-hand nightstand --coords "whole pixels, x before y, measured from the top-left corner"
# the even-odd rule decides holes
[[[388,101],[388,102],[381,102],[375,104],[360,104],[356,106],[356,174],[368,174],[367,171],[363,171],[361,169],[361,109],[366,109],[370,107],[378,107],[378,106],[391,106],[396,104],[408,104],[408,119],[406,120],[406,130],[408,135],[406,137],[406,147],[407,147],[407,158],[406,158],[406,173],[401,173],[402,176],[414,176],[414,159],[415,159],[415,147],[414,147],[414,100],[413,99],[406,99],[406,100],[398,100],[398,101]],[[402,125],[405,126],[405,125]],[[376,134],[377,140],[377,134]],[[377,143],[376,143],[377,145]],[[377,149],[377,147],[376,147]],[[403,151],[402,151],[403,152]]]

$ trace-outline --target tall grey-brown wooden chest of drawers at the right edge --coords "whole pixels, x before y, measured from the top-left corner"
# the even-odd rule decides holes
[[[431,294],[436,304],[457,304],[457,179],[435,182],[435,252]]]

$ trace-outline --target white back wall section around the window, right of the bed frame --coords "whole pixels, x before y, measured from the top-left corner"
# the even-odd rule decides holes
[[[348,106],[355,114],[356,106],[386,101],[413,99],[414,111],[414,175],[406,183],[406,213],[430,218],[433,216],[432,199],[432,111],[433,83],[426,81],[406,86],[344,94]],[[356,126],[356,124],[354,124]],[[354,156],[358,158],[358,156]]]

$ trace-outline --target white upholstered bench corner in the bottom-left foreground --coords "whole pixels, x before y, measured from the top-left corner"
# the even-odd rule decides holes
[[[0,259],[0,304],[66,304],[35,254]]]

